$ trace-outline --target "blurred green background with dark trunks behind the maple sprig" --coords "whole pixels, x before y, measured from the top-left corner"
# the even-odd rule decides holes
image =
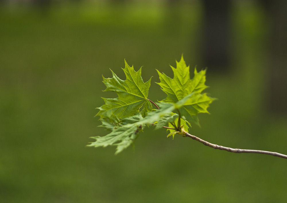
[[[191,134],[287,154],[287,1],[0,2],[0,202],[287,202],[283,158],[152,128],[116,156],[86,147],[109,68],[143,66],[161,100],[155,69],[183,53],[218,98]]]

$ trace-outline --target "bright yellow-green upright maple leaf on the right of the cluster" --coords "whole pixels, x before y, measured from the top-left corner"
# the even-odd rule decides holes
[[[162,102],[177,103],[192,93],[193,96],[189,97],[188,102],[180,109],[180,113],[181,116],[184,116],[188,121],[193,121],[199,125],[197,114],[208,113],[207,108],[215,99],[207,96],[206,93],[201,94],[201,92],[208,87],[205,85],[206,70],[197,72],[195,68],[194,77],[190,79],[189,66],[186,65],[183,56],[181,56],[181,60],[179,62],[176,61],[176,63],[176,68],[170,66],[174,73],[174,78],[170,78],[157,70],[160,77],[160,82],[157,84],[159,84],[161,89],[167,94],[167,97],[162,100]]]

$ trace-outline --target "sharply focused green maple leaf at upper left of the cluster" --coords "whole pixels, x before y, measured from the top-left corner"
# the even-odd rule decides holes
[[[121,80],[112,71],[113,78],[104,78],[103,82],[106,85],[106,90],[112,91],[118,94],[117,98],[103,98],[105,104],[97,108],[100,111],[97,113],[102,118],[117,117],[119,119],[133,116],[139,112],[146,116],[146,113],[152,111],[152,105],[147,99],[148,90],[150,88],[150,80],[143,82],[141,78],[141,68],[136,72],[125,61],[126,80]],[[96,115],[96,116],[97,116]]]

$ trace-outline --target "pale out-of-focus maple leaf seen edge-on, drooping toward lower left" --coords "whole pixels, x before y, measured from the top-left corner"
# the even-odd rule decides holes
[[[190,102],[193,100],[194,93],[191,93],[177,103],[166,103],[160,102],[156,103],[160,109],[152,112],[148,112],[146,117],[142,117],[141,113],[126,117],[123,119],[118,119],[116,117],[103,118],[102,127],[106,128],[110,132],[106,136],[96,136],[92,137],[96,139],[95,142],[87,146],[94,147],[106,147],[108,145],[116,145],[117,151],[116,154],[133,144],[135,139],[139,136],[139,133],[144,129],[147,124],[156,123],[156,129],[163,127],[168,122],[177,121],[179,115],[172,113],[173,111],[180,111],[185,106],[190,105]],[[187,125],[189,123],[184,119],[181,120],[181,125],[185,130],[188,129]],[[190,125],[190,124],[189,124]],[[175,134],[177,131],[171,131],[171,134]],[[170,135],[171,135],[170,134]]]

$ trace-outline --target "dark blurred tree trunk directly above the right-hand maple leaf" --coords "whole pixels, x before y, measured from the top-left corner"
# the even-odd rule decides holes
[[[227,71],[230,62],[230,0],[203,0],[203,63],[209,71]]]

